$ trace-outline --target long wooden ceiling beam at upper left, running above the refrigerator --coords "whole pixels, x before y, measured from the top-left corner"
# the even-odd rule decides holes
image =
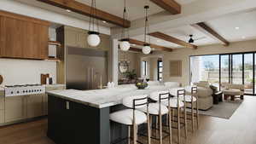
[[[86,16],[90,16],[91,7],[89,5],[86,5],[84,3],[79,3],[74,0],[37,0],[37,1],[42,3],[48,3],[50,5],[59,7],[61,9],[70,9],[73,12],[78,14],[84,14]],[[124,23],[123,18],[120,18],[113,14],[109,14],[100,9],[96,9],[96,15],[92,14],[92,16],[96,19],[105,20],[117,26],[126,27],[126,28],[131,26],[131,21],[125,20],[125,23]]]

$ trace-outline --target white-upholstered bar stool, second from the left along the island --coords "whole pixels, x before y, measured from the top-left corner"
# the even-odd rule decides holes
[[[171,109],[170,109],[170,102],[168,103],[168,107],[169,109],[161,104],[162,101],[169,101],[170,100],[170,92],[169,91],[160,91],[160,92],[153,92],[150,94],[150,99],[152,99],[153,101],[156,101],[154,103],[149,103],[148,104],[148,113],[149,116],[155,116],[156,118],[158,118],[158,124],[159,124],[159,131],[160,131],[160,138],[157,139],[160,141],[160,144],[163,143],[163,129],[162,129],[162,116],[166,115],[167,117],[167,123],[168,123],[168,129],[169,129],[169,144],[172,144],[172,115],[171,115]],[[146,107],[142,107],[142,108],[138,108],[138,110],[142,111],[142,112],[147,112]],[[168,117],[169,116],[169,117]],[[149,119],[149,123],[150,125],[152,124],[152,118]]]

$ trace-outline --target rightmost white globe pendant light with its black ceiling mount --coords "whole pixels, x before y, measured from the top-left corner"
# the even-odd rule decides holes
[[[145,9],[145,14],[146,14],[146,19],[145,19],[145,29],[144,29],[145,30],[145,32],[144,32],[144,43],[145,44],[143,45],[143,54],[148,55],[151,52],[149,36],[148,36],[148,43],[147,43],[147,35],[148,35],[148,29],[149,29],[149,26],[148,26],[148,9],[149,9],[149,6],[145,5],[144,9]]]

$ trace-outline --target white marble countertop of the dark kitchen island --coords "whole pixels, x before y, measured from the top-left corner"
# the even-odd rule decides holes
[[[122,99],[132,95],[149,95],[154,91],[169,90],[163,85],[149,86],[147,89],[137,89],[135,85],[118,86],[113,89],[76,90],[62,89],[49,91],[49,95],[55,95],[69,101],[76,101],[96,108],[111,107],[122,103]]]

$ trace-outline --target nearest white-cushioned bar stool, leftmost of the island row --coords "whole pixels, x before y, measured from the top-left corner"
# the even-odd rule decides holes
[[[112,120],[115,123],[125,124],[128,126],[129,128],[128,143],[129,144],[131,139],[131,135],[130,135],[131,126],[133,127],[133,144],[137,144],[137,126],[143,123],[148,123],[148,144],[150,144],[148,95],[136,95],[136,96],[125,97],[123,99],[123,105],[125,107],[128,107],[128,109],[111,113],[110,120]],[[142,108],[142,107],[146,107],[147,114],[137,110],[137,108]]]

